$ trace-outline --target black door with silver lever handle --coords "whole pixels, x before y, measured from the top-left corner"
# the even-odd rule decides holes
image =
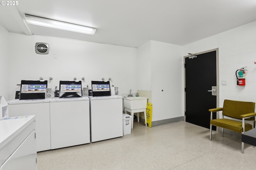
[[[210,112],[216,108],[216,96],[208,90],[216,86],[216,51],[185,58],[186,122],[210,128]],[[214,114],[216,119],[216,114]],[[214,129],[215,128],[215,129]],[[213,127],[216,130],[216,127]]]

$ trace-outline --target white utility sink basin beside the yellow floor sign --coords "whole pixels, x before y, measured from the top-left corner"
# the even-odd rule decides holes
[[[130,110],[146,109],[147,97],[124,97],[124,107]]]

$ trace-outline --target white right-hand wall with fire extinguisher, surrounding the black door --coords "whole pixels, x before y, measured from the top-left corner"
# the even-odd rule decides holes
[[[184,45],[183,55],[219,48],[220,107],[224,99],[256,102],[256,22]],[[236,85],[235,72],[246,69],[246,86]],[[221,85],[226,81],[227,85]]]

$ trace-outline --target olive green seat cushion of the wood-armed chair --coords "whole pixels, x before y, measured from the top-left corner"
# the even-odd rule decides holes
[[[212,119],[210,121],[210,124],[215,125],[217,127],[222,127],[222,128],[226,128],[229,130],[233,130],[233,131],[239,132],[239,133],[243,132],[242,122],[240,122],[240,121],[235,121],[235,120],[231,120],[231,119]],[[248,130],[252,129],[252,125],[250,125],[249,123],[244,123],[244,124],[245,124],[244,131],[248,131]]]

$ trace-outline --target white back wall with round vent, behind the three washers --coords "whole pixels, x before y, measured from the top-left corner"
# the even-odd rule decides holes
[[[47,55],[35,53],[35,43],[49,44]],[[137,92],[137,49],[103,43],[83,42],[44,36],[26,36],[10,33],[10,59],[8,68],[10,99],[14,99],[21,80],[48,80],[48,87],[57,86],[60,80],[82,81],[82,86],[91,86],[91,81],[111,78],[110,85],[119,87],[120,95],[128,95],[130,89]],[[53,77],[50,81],[49,77]]]

